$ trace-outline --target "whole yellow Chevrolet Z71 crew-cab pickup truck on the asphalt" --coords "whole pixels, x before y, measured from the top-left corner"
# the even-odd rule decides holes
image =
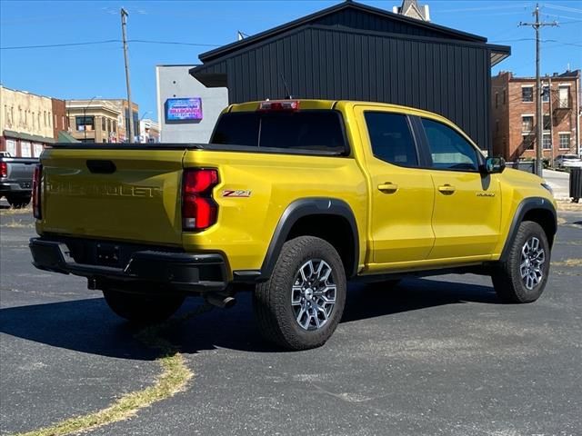
[[[85,276],[132,322],[250,289],[293,350],[327,341],[352,280],[473,272],[533,302],[557,230],[547,184],[447,119],[349,101],[232,104],[210,144],[55,144],[33,194],[37,268]]]

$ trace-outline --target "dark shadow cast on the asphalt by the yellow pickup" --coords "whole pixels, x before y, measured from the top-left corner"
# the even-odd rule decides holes
[[[410,279],[394,289],[350,285],[343,323],[465,302],[497,303],[487,286]],[[200,298],[186,300],[160,334],[184,353],[227,348],[244,352],[281,352],[264,342],[256,328],[250,293],[233,309],[196,312]],[[340,326],[341,328],[341,326]],[[0,332],[27,341],[115,358],[154,360],[156,350],[136,338],[143,328],[116,317],[102,298],[54,302],[0,310]],[[9,340],[6,340],[7,345]]]

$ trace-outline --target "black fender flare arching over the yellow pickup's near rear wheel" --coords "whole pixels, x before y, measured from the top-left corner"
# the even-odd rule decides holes
[[[348,278],[355,276],[359,262],[359,237],[356,218],[352,209],[343,200],[314,197],[302,198],[287,206],[276,224],[276,229],[266,250],[261,269],[259,271],[235,271],[233,272],[235,282],[265,282],[268,280],[275,269],[276,261],[291,229],[300,218],[309,215],[335,215],[346,219],[346,222],[351,227],[354,241],[354,261],[346,275]]]

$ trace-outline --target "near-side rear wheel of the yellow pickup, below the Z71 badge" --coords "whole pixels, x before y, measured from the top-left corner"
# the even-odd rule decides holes
[[[311,266],[306,266],[309,263]],[[306,268],[304,272],[317,269],[316,275],[311,276],[312,284],[307,285],[307,282],[303,282],[301,286],[297,285],[302,282],[299,272],[303,269],[302,266]],[[331,269],[331,272],[327,273],[328,269]],[[320,279],[317,284],[316,276],[320,277],[326,273],[328,278],[324,279],[325,282]],[[316,291],[311,290],[314,284],[317,284]],[[297,288],[303,289],[303,286],[309,287],[305,291],[297,291]],[[311,294],[322,292],[324,288],[334,294],[335,304],[331,307],[329,302],[323,301],[323,296]],[[327,300],[331,300],[332,293],[326,294]],[[296,296],[300,297],[298,300],[301,302],[297,301],[293,305],[292,299]],[[256,285],[253,302],[260,332],[267,341],[288,350],[307,350],[323,345],[336,330],[346,305],[346,272],[336,249],[323,239],[313,236],[300,236],[287,241],[283,245],[271,278]],[[301,317],[297,312],[301,313],[304,308],[306,312],[303,313],[306,317]],[[321,308],[323,313],[317,312],[317,308]],[[330,312],[326,313],[328,309]],[[317,313],[316,316],[314,312]],[[326,319],[320,319],[320,315]],[[302,327],[297,318],[305,320],[306,327]]]

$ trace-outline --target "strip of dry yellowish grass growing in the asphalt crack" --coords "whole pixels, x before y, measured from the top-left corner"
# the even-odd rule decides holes
[[[17,433],[15,436],[64,436],[71,433],[93,431],[113,422],[131,418],[141,409],[157,401],[166,400],[166,398],[175,395],[177,392],[184,391],[187,382],[194,377],[194,373],[186,367],[182,354],[178,352],[172,343],[166,341],[161,334],[177,322],[184,322],[211,310],[212,306],[204,304],[182,317],[147,327],[135,335],[147,347],[160,351],[156,362],[159,362],[163,372],[157,376],[153,386],[141,391],[125,393],[113,404],[100,411],[69,418],[42,429]]]

